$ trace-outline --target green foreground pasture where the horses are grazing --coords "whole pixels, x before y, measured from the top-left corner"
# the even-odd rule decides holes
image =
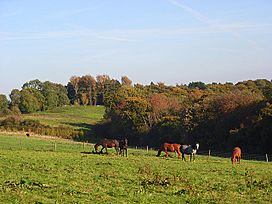
[[[55,149],[56,143],[56,149]],[[271,203],[272,164],[0,134],[0,203]]]

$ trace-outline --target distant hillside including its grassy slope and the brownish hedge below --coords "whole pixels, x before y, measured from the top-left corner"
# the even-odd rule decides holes
[[[104,115],[104,106],[65,106],[50,111],[2,117],[0,130],[86,139]],[[81,138],[80,138],[81,137]]]

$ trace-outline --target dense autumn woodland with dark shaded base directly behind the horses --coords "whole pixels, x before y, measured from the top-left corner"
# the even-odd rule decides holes
[[[265,79],[125,85],[106,98],[105,106],[98,129],[134,144],[199,142],[202,149],[272,152],[272,83]]]

